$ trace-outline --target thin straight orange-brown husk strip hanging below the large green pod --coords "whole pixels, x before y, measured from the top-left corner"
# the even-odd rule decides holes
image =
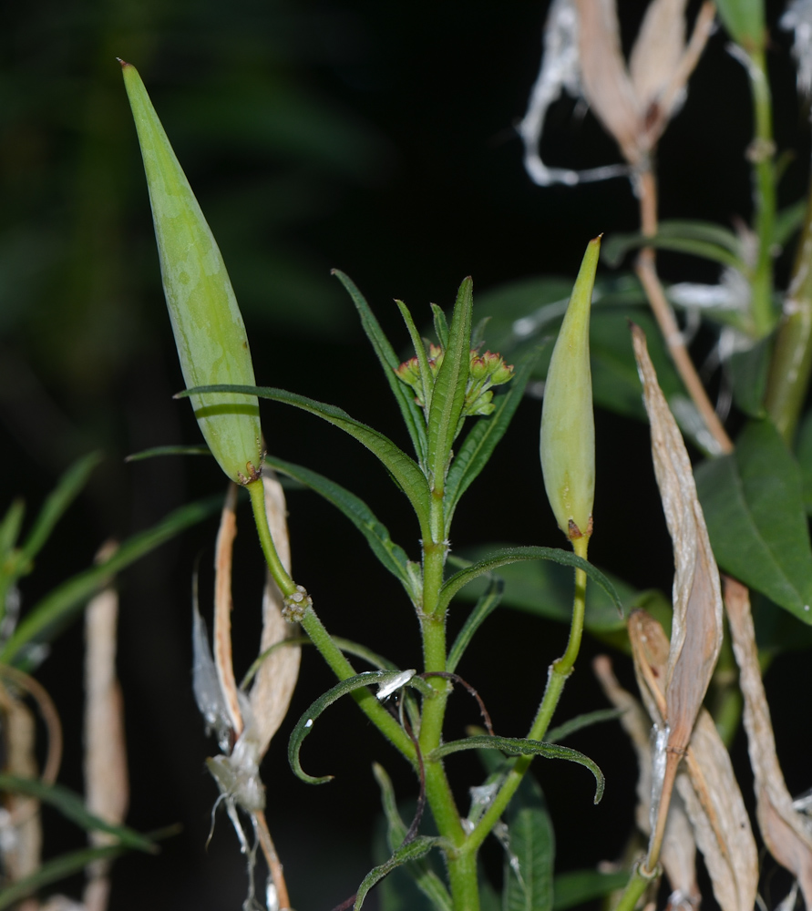
[[[235,736],[242,733],[242,711],[231,660],[231,555],[237,537],[237,486],[230,484],[222,507],[214,555],[214,664]]]

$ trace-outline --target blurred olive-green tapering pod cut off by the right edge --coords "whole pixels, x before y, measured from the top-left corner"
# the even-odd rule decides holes
[[[776,336],[765,396],[766,413],[792,445],[812,374],[812,189]]]

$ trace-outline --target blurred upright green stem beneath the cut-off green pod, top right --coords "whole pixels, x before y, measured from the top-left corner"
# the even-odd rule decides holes
[[[773,166],[773,102],[766,73],[764,50],[747,55],[747,74],[753,91],[754,138],[749,157],[755,168],[755,231],[758,258],[753,271],[753,323],[757,338],[775,325],[773,313],[773,238],[776,221],[776,170]]]

